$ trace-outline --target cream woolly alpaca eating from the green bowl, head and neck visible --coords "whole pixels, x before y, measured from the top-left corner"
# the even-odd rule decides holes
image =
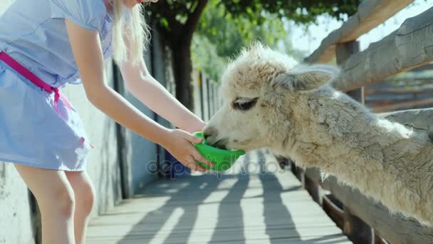
[[[207,143],[269,148],[432,226],[432,139],[335,91],[328,83],[338,72],[251,46],[222,76],[224,105],[204,128]]]

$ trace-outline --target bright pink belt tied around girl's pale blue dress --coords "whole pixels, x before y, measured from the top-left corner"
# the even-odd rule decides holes
[[[9,65],[11,68],[13,68],[16,72],[21,74],[21,76],[24,76],[24,78],[28,79],[28,81],[31,81],[31,83],[35,84],[36,86],[43,88],[48,93],[54,93],[54,109],[58,113],[59,116],[62,116],[60,111],[58,111],[57,103],[59,98],[62,98],[63,104],[65,104],[66,108],[69,110],[72,109],[71,103],[69,103],[66,96],[63,96],[63,94],[58,90],[58,88],[54,88],[44,81],[42,81],[38,76],[36,76],[34,73],[29,71],[26,67],[22,66],[21,63],[17,62],[15,59],[13,59],[11,56],[6,54],[4,51],[0,52],[0,60],[4,61],[7,65]],[[81,138],[81,142],[84,143],[85,138]],[[93,146],[90,144],[90,146],[93,148]]]

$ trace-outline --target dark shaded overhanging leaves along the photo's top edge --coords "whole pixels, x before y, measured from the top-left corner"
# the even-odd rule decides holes
[[[187,23],[199,2],[219,8],[231,19],[247,18],[251,24],[260,26],[268,21],[266,13],[276,14],[279,19],[286,17],[298,24],[315,23],[317,16],[328,14],[343,19],[345,14],[354,14],[362,0],[161,0],[152,4],[150,10],[162,26],[172,29],[173,25]],[[177,23],[175,23],[177,22]],[[170,26],[172,25],[172,26]]]

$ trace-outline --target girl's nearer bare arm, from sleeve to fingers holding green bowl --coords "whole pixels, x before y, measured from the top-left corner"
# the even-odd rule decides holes
[[[199,143],[201,139],[184,131],[160,126],[107,86],[98,32],[83,29],[68,19],[65,21],[88,100],[122,126],[165,147],[184,165],[196,171],[205,171],[195,163],[194,158],[204,163],[209,161],[192,146],[192,142]]]

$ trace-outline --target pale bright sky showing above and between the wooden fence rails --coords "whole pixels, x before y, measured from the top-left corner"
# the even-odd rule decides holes
[[[383,37],[392,33],[392,31],[398,29],[405,19],[417,16],[432,6],[433,0],[415,0],[413,4],[402,9],[402,11],[395,14],[395,16],[392,16],[390,19],[385,21],[384,24],[377,26],[367,34],[360,36],[358,41],[360,41],[361,51],[366,49],[370,43],[379,41]],[[317,26],[309,26],[307,33],[305,32],[305,26],[296,26],[291,24],[291,39],[295,49],[304,51],[308,55],[313,53],[313,51],[320,46],[320,41],[328,36],[331,31],[338,29],[343,21],[336,21],[328,16],[320,16],[318,23]]]

